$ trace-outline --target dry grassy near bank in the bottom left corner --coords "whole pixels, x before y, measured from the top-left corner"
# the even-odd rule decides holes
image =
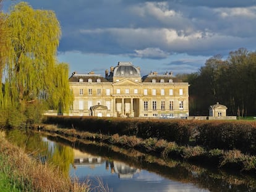
[[[88,186],[62,175],[56,167],[41,164],[0,134],[1,191],[89,191]]]

